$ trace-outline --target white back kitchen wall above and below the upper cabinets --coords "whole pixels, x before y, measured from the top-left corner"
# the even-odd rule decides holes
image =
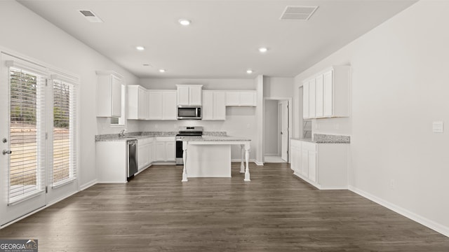
[[[176,90],[176,85],[200,84],[203,90],[255,90],[253,79],[178,79],[178,78],[142,78],[140,85],[147,89]],[[203,126],[205,131],[224,131],[232,137],[251,139],[250,158],[255,159],[257,151],[257,130],[254,107],[227,107],[225,121],[175,120],[175,121],[139,121],[139,131],[177,132],[180,126]],[[232,158],[240,159],[239,146],[232,146]]]

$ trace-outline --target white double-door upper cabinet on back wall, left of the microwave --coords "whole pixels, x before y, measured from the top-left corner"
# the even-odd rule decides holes
[[[176,91],[147,90],[149,120],[176,120]]]

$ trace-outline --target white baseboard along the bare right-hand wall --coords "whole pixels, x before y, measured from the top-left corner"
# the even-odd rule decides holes
[[[410,220],[416,221],[417,223],[420,223],[426,226],[427,228],[435,230],[436,232],[441,233],[441,235],[449,237],[449,227],[431,221],[428,218],[424,218],[423,216],[408,211],[407,209],[403,209],[402,207],[398,207],[396,204],[387,202],[386,200],[382,200],[380,197],[376,197],[375,195],[366,193],[365,191],[355,188],[354,186],[348,186],[348,189],[358,195],[361,195],[362,197],[366,197],[368,200],[380,204],[383,207],[387,207],[387,209],[390,209],[391,211],[395,211],[396,213],[401,214],[402,216],[406,216],[407,218],[410,218]]]

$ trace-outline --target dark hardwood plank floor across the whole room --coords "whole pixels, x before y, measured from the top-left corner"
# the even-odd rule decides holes
[[[154,166],[97,184],[0,230],[39,251],[449,251],[449,238],[348,190],[317,190],[286,164],[243,182]]]

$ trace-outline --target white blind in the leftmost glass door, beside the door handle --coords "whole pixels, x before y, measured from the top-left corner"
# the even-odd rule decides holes
[[[9,65],[10,150],[8,204],[45,188],[45,86],[39,70]]]

